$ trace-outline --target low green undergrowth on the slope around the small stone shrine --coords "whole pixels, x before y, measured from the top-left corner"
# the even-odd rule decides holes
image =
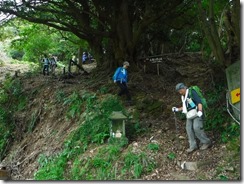
[[[59,102],[60,96],[64,97],[64,94],[57,93]],[[96,93],[76,91],[63,99],[63,105],[68,106],[66,118],[75,119],[79,127],[65,141],[60,154],[39,157],[36,180],[115,180],[128,178],[131,167],[133,174],[130,178],[138,178],[152,170],[155,164],[145,154],[122,155],[127,139],[108,142],[111,113],[122,111],[129,116],[117,97],[106,95],[100,100]],[[135,124],[134,132],[138,129],[138,124]],[[91,145],[103,145],[92,158],[84,156]],[[69,161],[73,164],[67,171]]]

